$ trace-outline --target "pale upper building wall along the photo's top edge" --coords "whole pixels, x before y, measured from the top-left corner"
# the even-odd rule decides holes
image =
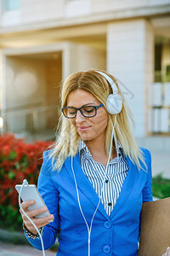
[[[20,3],[20,9],[4,12],[0,2],[0,27],[34,25],[35,22],[38,24],[44,21],[51,22],[52,26],[58,26],[58,21],[65,18],[82,17],[84,20],[88,15],[111,11],[125,11],[127,15],[128,10],[133,17],[135,9],[163,6],[169,4],[169,0],[22,0]],[[151,12],[153,11],[152,9]],[[46,27],[47,24],[44,23],[43,26]]]

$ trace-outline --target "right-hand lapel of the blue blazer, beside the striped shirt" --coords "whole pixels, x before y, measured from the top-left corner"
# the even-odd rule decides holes
[[[131,190],[133,189],[135,172],[138,172],[138,169],[136,166],[133,165],[132,161],[128,157],[127,165],[129,167],[127,177],[125,178],[124,183],[122,184],[120,195],[116,201],[116,205],[113,208],[113,211],[111,212],[110,218],[114,218],[116,212],[118,212],[120,207],[122,207],[124,202],[127,200],[128,196],[130,195]]]

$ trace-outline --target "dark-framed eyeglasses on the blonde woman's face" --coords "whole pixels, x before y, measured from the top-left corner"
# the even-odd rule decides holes
[[[104,106],[104,104],[100,104],[99,106],[85,106],[82,108],[65,107],[61,108],[61,110],[67,119],[74,119],[77,116],[78,110],[84,117],[91,118],[96,115],[97,109],[101,108],[102,106]]]

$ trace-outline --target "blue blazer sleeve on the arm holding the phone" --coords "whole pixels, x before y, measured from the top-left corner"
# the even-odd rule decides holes
[[[54,215],[54,222],[50,222],[44,226],[42,233],[42,240],[44,249],[54,245],[57,234],[59,233],[59,190],[55,187],[53,182],[52,160],[48,158],[48,151],[43,154],[42,168],[38,177],[37,189],[42,195],[42,199],[45,202],[48,210]],[[26,233],[25,233],[26,234]],[[31,239],[27,237],[27,240],[33,247],[38,250],[42,250],[42,243],[40,237],[37,239]]]

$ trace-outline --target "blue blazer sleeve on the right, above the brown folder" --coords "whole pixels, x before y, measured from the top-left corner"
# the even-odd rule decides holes
[[[147,174],[146,183],[144,185],[144,189],[142,190],[143,201],[153,201],[152,198],[152,173],[151,173],[151,154],[150,151],[146,149],[146,165],[148,170],[145,171]]]

